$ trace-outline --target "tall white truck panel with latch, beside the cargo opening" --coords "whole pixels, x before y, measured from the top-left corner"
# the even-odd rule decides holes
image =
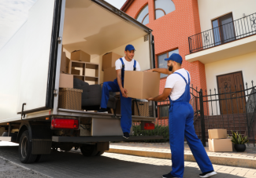
[[[46,106],[54,1],[39,0],[29,10],[17,112]]]

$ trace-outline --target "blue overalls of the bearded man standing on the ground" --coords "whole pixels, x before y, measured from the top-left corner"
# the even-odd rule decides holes
[[[182,74],[179,74],[182,78]],[[194,129],[194,110],[189,104],[190,96],[190,78],[188,75],[188,83],[186,78],[186,89],[178,100],[170,100],[169,108],[169,140],[172,151],[172,175],[176,177],[183,177],[184,175],[184,136],[186,137],[188,146],[195,157],[202,173],[213,171],[213,165],[210,158],[206,154],[205,148],[202,146],[201,140],[195,134]]]

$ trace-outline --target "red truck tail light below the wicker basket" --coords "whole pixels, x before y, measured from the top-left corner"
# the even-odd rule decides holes
[[[53,118],[51,127],[52,129],[78,129],[79,122],[72,118]]]

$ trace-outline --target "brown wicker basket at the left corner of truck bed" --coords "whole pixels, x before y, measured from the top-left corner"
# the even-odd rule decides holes
[[[63,88],[59,90],[58,107],[69,110],[82,110],[83,89]]]

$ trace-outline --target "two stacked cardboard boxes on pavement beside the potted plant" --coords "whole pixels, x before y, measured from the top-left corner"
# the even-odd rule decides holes
[[[228,139],[227,129],[209,129],[209,151],[232,151],[231,139]]]

